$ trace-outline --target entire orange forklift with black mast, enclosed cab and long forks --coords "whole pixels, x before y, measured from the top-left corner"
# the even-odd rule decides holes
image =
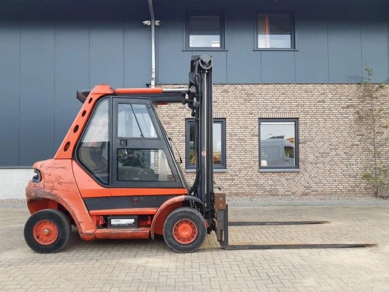
[[[226,196],[213,185],[212,57],[192,56],[189,87],[77,92],[83,105],[53,159],[34,164],[26,188],[31,217],[28,246],[55,253],[71,236],[84,240],[154,239],[178,253],[194,252],[212,231],[225,249],[331,248],[371,242],[241,242],[229,244],[229,225],[326,223],[229,222]],[[188,185],[158,106],[182,102],[195,119],[196,176]],[[180,158],[179,158],[180,159]]]

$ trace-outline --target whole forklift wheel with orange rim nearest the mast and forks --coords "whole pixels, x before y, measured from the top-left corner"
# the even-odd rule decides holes
[[[192,253],[205,240],[207,228],[203,216],[190,207],[172,211],[163,225],[166,244],[177,253]]]

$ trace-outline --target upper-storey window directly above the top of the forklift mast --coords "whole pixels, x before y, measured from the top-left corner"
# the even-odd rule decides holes
[[[223,16],[220,13],[188,14],[186,48],[223,48],[223,27]]]

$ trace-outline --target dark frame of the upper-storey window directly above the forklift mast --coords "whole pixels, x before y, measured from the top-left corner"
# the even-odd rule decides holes
[[[192,16],[217,16],[220,19],[219,35],[220,35],[220,47],[191,47],[190,46],[190,32],[189,24],[190,17]],[[219,51],[224,50],[224,11],[187,11],[185,13],[185,50],[209,50],[209,51]]]

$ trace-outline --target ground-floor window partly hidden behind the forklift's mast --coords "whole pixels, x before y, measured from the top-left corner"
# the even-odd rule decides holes
[[[186,151],[185,166],[194,169],[196,166],[195,156],[195,121],[186,120]],[[226,169],[226,120],[213,119],[213,168]]]

